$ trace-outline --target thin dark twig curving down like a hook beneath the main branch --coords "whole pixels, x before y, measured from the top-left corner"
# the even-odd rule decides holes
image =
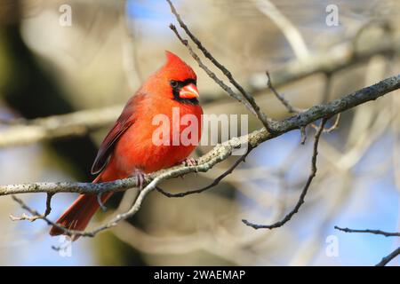
[[[281,221],[278,221],[272,225],[258,225],[258,224],[254,224],[254,223],[251,223],[251,222],[243,219],[242,222],[245,225],[251,226],[254,229],[274,229],[274,228],[284,225],[286,222],[288,222],[293,217],[294,214],[299,212],[299,209],[300,209],[301,205],[304,203],[304,199],[306,198],[306,194],[308,193],[309,185],[311,185],[311,182],[313,181],[314,177],[316,177],[316,156],[318,154],[318,142],[319,142],[319,138],[321,137],[321,134],[323,133],[324,124],[326,121],[327,121],[327,118],[323,118],[318,130],[316,131],[316,136],[314,138],[313,155],[311,158],[311,171],[308,176],[306,185],[304,186],[303,190],[301,191],[300,198],[299,198],[299,201],[297,201],[296,206],[292,209],[292,211],[290,211],[288,214],[286,214],[286,216]]]

